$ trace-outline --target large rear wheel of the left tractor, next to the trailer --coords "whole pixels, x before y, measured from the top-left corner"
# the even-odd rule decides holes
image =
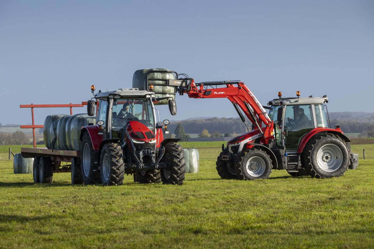
[[[100,182],[100,172],[98,170],[93,171],[93,164],[97,159],[97,152],[93,150],[91,138],[88,132],[85,132],[82,137],[82,146],[80,149],[80,168],[84,184]]]

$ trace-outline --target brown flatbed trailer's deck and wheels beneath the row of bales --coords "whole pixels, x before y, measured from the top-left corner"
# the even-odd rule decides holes
[[[34,158],[33,177],[35,183],[52,183],[53,173],[71,172],[72,182],[77,178],[76,173],[78,172],[74,172],[74,168],[76,168],[74,165],[79,163],[79,151],[21,148],[21,154],[24,158]],[[61,162],[70,164],[61,165]]]

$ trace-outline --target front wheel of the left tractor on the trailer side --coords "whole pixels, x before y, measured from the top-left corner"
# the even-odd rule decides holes
[[[125,174],[121,145],[107,143],[102,147],[100,155],[100,176],[104,186],[122,185]]]

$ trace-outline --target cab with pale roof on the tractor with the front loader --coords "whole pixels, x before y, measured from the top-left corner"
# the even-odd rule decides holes
[[[299,92],[298,92],[299,94]],[[281,95],[281,93],[279,94]],[[296,153],[301,139],[311,130],[328,128],[327,96],[321,98],[282,98],[269,101],[269,117],[274,122],[277,147]],[[283,134],[283,136],[282,136]]]

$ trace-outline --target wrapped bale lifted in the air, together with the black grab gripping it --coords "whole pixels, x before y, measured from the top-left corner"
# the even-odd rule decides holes
[[[132,77],[132,87],[154,92],[156,99],[165,98],[154,102],[154,105],[167,105],[169,100],[175,100],[180,86],[177,78],[177,72],[165,68],[140,69]]]

